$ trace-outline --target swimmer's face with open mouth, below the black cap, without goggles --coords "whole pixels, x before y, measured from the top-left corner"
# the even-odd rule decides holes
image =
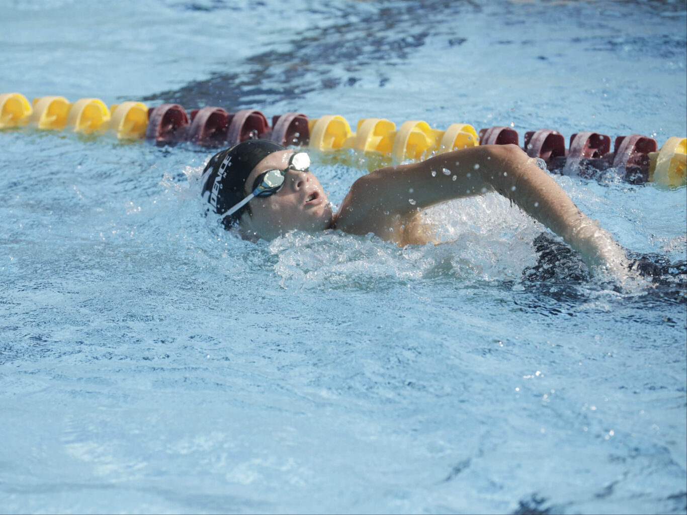
[[[262,159],[246,180],[244,194],[251,193],[256,178],[267,170],[284,170],[294,150],[272,152]],[[292,229],[324,231],[332,222],[332,210],[322,185],[313,172],[289,170],[284,185],[273,195],[254,197],[240,220],[245,233],[271,239]]]

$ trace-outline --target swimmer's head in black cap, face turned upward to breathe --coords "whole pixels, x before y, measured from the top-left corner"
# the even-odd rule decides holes
[[[238,226],[246,236],[274,238],[291,229],[322,231],[331,225],[332,211],[322,185],[294,150],[261,139],[218,152],[203,172],[203,198],[217,214],[250,200],[224,216],[226,229]],[[300,156],[304,157],[304,155]],[[307,160],[306,160],[307,162]],[[252,197],[265,172],[279,170],[283,183],[268,196]]]

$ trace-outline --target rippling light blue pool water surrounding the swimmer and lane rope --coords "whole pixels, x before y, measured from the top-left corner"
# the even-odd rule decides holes
[[[662,144],[686,10],[1,0],[0,91]],[[429,210],[437,246],[252,244],[201,216],[209,157],[0,133],[0,512],[687,512],[684,274],[590,278],[550,238],[547,275],[497,196]],[[334,203],[367,171],[339,158],[313,154]],[[685,260],[685,188],[611,172],[555,178]]]

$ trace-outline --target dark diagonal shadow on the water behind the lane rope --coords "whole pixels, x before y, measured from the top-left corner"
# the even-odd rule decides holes
[[[191,3],[189,8],[227,7],[214,3],[214,7],[201,8]],[[427,37],[438,32],[442,17],[481,10],[472,1],[450,0],[322,3],[317,8],[330,11],[330,19],[336,22],[296,32],[284,49],[270,49],[247,58],[240,73],[219,71],[206,80],[192,81],[143,100],[221,105],[231,111],[303,98],[311,91],[352,87],[361,80],[361,73],[368,73],[370,65],[394,65],[425,45]],[[464,41],[453,37],[447,43],[455,46]],[[382,71],[377,73],[379,87],[384,87],[390,78]]]

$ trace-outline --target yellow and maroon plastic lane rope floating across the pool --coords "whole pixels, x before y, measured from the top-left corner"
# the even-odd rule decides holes
[[[353,132],[339,115],[308,119],[303,113],[267,117],[254,109],[228,113],[206,106],[185,111],[179,104],[148,108],[142,102],[127,101],[106,106],[98,98],[69,102],[61,96],[45,96],[29,102],[21,93],[0,93],[0,129],[29,126],[39,130],[69,130],[91,135],[109,134],[118,139],[147,139],[158,145],[190,142],[217,148],[246,139],[271,139],[284,146],[308,146],[330,152],[352,149],[365,155],[400,163],[430,155],[485,144],[515,144],[513,128],[493,126],[479,133],[469,124],[451,124],[446,130],[431,128],[422,120],[408,120],[400,127],[385,118],[364,118]],[[557,130],[539,129],[525,133],[523,150],[541,158],[548,169],[567,175],[591,175],[594,170],[613,168],[624,181],[653,182],[666,186],[686,183],[684,137],[671,137],[659,149],[651,137],[633,134],[611,137],[585,131],[565,137]]]

